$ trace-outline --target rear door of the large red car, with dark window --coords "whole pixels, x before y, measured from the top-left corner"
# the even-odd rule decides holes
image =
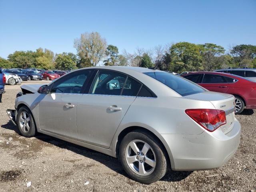
[[[229,84],[225,76],[217,74],[205,73],[200,86],[206,88],[209,91],[226,93],[229,89]]]

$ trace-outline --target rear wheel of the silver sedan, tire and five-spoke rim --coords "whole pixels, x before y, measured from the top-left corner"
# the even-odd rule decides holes
[[[119,157],[126,173],[134,180],[151,184],[167,170],[167,156],[160,142],[143,130],[128,133],[120,144]]]

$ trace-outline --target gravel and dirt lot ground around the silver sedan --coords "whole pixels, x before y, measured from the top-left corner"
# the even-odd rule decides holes
[[[236,116],[242,125],[241,143],[227,164],[209,171],[171,171],[160,181],[144,185],[131,180],[116,158],[42,134],[34,138],[20,136],[5,112],[14,108],[19,87],[7,85],[0,103],[0,192],[256,192],[255,110]],[[12,141],[8,140],[10,137]],[[29,187],[28,182],[31,182]]]

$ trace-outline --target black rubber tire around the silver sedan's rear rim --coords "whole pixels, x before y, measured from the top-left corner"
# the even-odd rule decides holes
[[[150,145],[156,156],[156,166],[154,171],[146,176],[136,174],[126,162],[126,147],[133,140],[142,140]],[[128,133],[121,141],[119,148],[119,158],[126,173],[134,180],[143,184],[151,184],[160,180],[167,171],[167,154],[162,150],[162,144],[155,138],[154,135],[149,134],[144,130],[134,130]]]

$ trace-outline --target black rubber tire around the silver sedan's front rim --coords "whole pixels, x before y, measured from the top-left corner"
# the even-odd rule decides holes
[[[22,112],[26,112],[28,114],[29,118],[30,118],[30,124],[29,124],[30,130],[28,132],[24,132],[21,128],[21,125],[20,125],[20,116],[22,115]],[[24,136],[24,137],[33,137],[33,136],[35,136],[35,134],[36,134],[35,121],[34,121],[34,118],[33,118],[33,115],[31,113],[31,111],[27,107],[23,106],[19,109],[18,114],[17,114],[16,123],[18,125],[18,129],[19,129],[20,134],[22,136]]]

